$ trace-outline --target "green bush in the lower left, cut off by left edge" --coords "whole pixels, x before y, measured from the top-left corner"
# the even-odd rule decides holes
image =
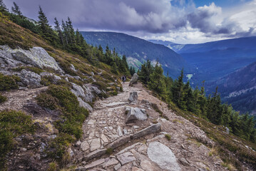
[[[34,133],[31,116],[15,110],[0,112],[0,167],[5,167],[6,155],[14,147],[14,138],[24,133]]]

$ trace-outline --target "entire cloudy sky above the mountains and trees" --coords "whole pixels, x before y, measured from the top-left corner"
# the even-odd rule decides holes
[[[11,9],[13,0],[4,0]],[[256,36],[256,0],[16,0],[25,16],[66,20],[80,31],[116,31],[144,39],[203,43]]]

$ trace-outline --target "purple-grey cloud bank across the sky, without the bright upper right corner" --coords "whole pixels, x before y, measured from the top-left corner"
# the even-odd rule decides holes
[[[12,0],[4,0],[11,8]],[[76,28],[83,30],[169,33],[180,28],[195,28],[207,36],[245,35],[236,21],[222,17],[222,9],[214,3],[195,8],[185,0],[16,0],[25,16],[37,19],[39,5],[53,24],[53,18],[69,16]],[[177,4],[180,4],[177,5]],[[183,29],[183,30],[184,30]]]

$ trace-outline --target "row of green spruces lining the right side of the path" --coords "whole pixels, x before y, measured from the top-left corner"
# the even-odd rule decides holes
[[[195,113],[216,125],[224,125],[231,133],[245,140],[256,142],[255,120],[248,114],[240,115],[232,109],[232,105],[222,104],[217,88],[212,95],[207,96],[204,85],[193,89],[189,81],[183,82],[183,70],[178,79],[173,81],[168,74],[163,75],[163,68],[159,63],[152,66],[150,61],[143,63],[138,75],[140,81],[166,102],[174,103],[178,108]]]

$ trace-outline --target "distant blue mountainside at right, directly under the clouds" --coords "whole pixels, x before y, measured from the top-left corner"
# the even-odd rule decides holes
[[[256,61],[256,37],[186,44],[179,49],[168,41],[158,43],[170,44],[170,48],[183,56],[185,61],[198,68],[192,78],[196,85],[202,81],[216,81]]]

